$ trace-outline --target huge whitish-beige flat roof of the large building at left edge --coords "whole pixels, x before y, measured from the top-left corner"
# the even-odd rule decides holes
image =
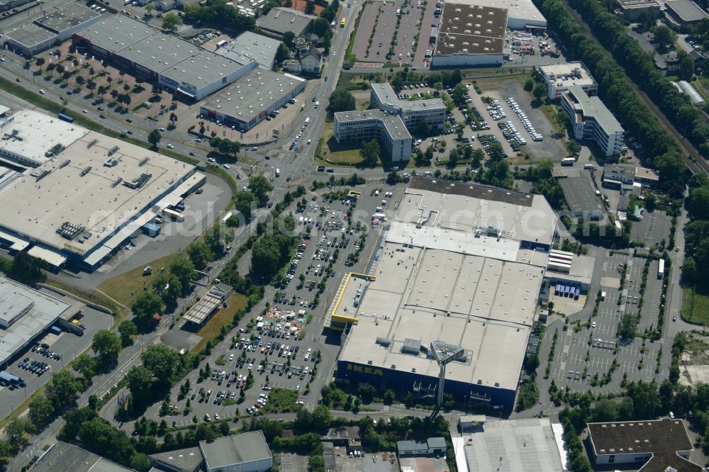
[[[31,113],[38,120],[45,120],[42,113]],[[35,175],[49,173],[41,179],[26,174],[0,189],[0,225],[30,241],[38,240],[48,249],[65,249],[68,243],[79,252],[89,252],[120,227],[131,221],[139,223],[141,215],[150,215],[146,212],[154,203],[194,174],[193,166],[177,159],[72,123],[55,121],[78,137],[67,143],[55,159],[33,169]],[[54,124],[59,126],[57,123]],[[25,127],[17,128],[24,133]],[[107,159],[115,162],[106,165]],[[150,178],[140,188],[123,184],[141,174],[150,174]],[[85,229],[69,241],[57,234],[62,223]],[[138,227],[133,225],[133,229]],[[78,239],[85,232],[91,237],[80,243]]]

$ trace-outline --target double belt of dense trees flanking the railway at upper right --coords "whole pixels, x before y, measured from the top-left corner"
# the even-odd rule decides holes
[[[549,26],[567,47],[567,56],[582,60],[598,80],[603,102],[615,112],[623,128],[635,136],[660,172],[662,189],[681,195],[686,179],[686,166],[674,138],[640,101],[625,76],[627,72],[675,127],[705,156],[709,156],[709,126],[691,102],[677,91],[668,79],[655,69],[654,63],[640,49],[637,41],[625,34],[617,16],[603,10],[595,0],[574,0],[571,4],[584,17],[613,58],[576,22],[562,0],[538,0]],[[616,62],[617,61],[617,62]],[[620,67],[622,64],[623,67]],[[625,71],[624,69],[625,68]]]

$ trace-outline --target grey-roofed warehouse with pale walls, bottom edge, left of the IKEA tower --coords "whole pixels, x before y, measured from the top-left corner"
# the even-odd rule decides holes
[[[200,441],[206,472],[266,472],[273,467],[273,456],[263,432],[252,431]]]

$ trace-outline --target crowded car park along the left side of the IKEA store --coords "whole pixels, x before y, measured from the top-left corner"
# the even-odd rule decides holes
[[[260,408],[268,410],[270,400],[264,402],[262,395],[270,396],[275,392],[279,398],[288,396],[279,393],[278,389],[293,392],[294,402],[308,410],[315,408],[320,388],[331,381],[339,348],[339,337],[330,340],[323,336],[329,334],[323,332],[326,310],[345,271],[364,271],[372,248],[376,247],[379,233],[369,231],[372,214],[376,213],[378,206],[384,205],[383,199],[387,203],[382,211],[393,210],[393,202],[403,194],[403,187],[379,189],[381,191],[375,191],[374,185],[357,188],[362,194],[356,198],[354,211],[351,203],[354,198],[326,200],[322,196],[307,201],[306,206],[301,206],[302,211],[293,208],[296,230],[300,232],[303,244],[296,252],[300,256],[294,257],[294,264],[288,269],[289,282],[268,300],[270,306],[265,313],[245,318],[224,342],[213,347],[211,355],[200,366],[205,368],[209,364],[208,377],[204,381],[198,382],[196,373],[187,376],[191,390],[185,399],[178,399],[179,386],[173,389],[171,405],[177,414],[167,417],[169,422],[174,421],[179,426],[191,425],[193,415],[203,420],[206,414],[211,420],[216,419],[216,415],[221,420],[228,419],[234,417],[237,410],[241,415],[252,412],[248,409],[257,403]],[[387,191],[392,192],[389,198],[386,198]],[[347,226],[346,213],[352,213],[350,227]],[[359,259],[348,262],[348,256],[354,254],[356,246],[361,244],[362,235],[366,235],[367,241]],[[335,252],[338,252],[337,262],[333,262]],[[328,271],[330,262],[333,266]],[[304,277],[302,284],[301,274]],[[325,291],[320,295],[319,303],[313,305],[320,283],[325,284]],[[318,353],[319,363],[316,362]],[[249,374],[251,381],[248,380]],[[240,388],[246,387],[247,383],[252,383],[251,388],[245,390],[244,400],[236,403]],[[309,392],[306,390],[308,383],[311,384]],[[181,413],[187,399],[192,411],[184,415]],[[291,403],[288,408],[297,408],[297,405]],[[152,405],[145,416],[158,420],[160,405]],[[130,423],[124,426],[133,429]]]

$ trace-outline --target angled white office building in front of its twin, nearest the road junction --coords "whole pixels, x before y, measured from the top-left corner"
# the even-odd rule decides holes
[[[411,157],[412,140],[401,117],[381,110],[340,111],[335,113],[335,140],[364,143],[377,139],[391,162]]]

